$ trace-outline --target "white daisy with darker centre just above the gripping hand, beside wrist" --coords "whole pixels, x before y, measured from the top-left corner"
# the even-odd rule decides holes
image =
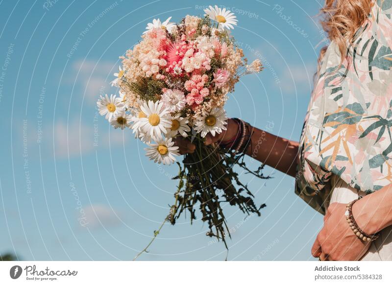
[[[207,133],[211,133],[215,137],[215,133],[220,134],[222,130],[226,130],[224,126],[226,122],[226,112],[223,108],[214,108],[210,113],[205,113],[195,121],[195,130],[197,133],[201,132],[201,137],[204,138]]]

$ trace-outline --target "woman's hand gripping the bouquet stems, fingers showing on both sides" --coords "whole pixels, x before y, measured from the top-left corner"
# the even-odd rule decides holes
[[[210,133],[205,137],[205,145],[209,145],[214,142],[228,142],[232,140],[239,131],[238,124],[233,119],[227,119],[226,131],[222,130],[220,134],[215,134],[215,137]],[[195,151],[195,144],[193,144],[188,138],[176,137],[174,139],[175,145],[178,146],[178,150],[181,154],[193,153]]]

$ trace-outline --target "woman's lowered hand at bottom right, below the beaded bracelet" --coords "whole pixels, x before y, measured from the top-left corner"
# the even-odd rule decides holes
[[[353,205],[353,211],[357,203]],[[368,251],[371,242],[359,239],[346,221],[346,205],[332,203],[328,207],[324,227],[312,247],[314,257],[320,257],[322,261],[357,261]]]

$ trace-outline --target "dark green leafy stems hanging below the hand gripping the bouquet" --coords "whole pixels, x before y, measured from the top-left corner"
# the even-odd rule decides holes
[[[262,174],[264,165],[256,171],[247,168],[244,154],[230,155],[219,146],[204,145],[200,137],[196,137],[196,151],[186,154],[183,167],[180,164],[178,189],[175,193],[176,203],[171,207],[168,220],[175,224],[176,219],[188,210],[191,222],[196,219],[196,205],[201,213],[201,220],[208,223],[207,236],[222,240],[227,248],[226,235],[230,237],[226,219],[221,207],[222,203],[238,206],[245,214],[255,213],[260,216],[260,209],[266,205],[256,206],[253,194],[247,185],[240,181],[239,174],[233,170],[240,166],[256,177],[268,179]],[[234,186],[234,183],[239,187]],[[177,206],[178,201],[178,206]]]

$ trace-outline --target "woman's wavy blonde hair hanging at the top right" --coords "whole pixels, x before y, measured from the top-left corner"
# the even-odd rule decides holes
[[[321,25],[331,42],[334,42],[341,54],[342,65],[348,48],[353,45],[357,30],[368,18],[373,0],[325,0],[320,10]],[[322,48],[319,62],[326,48]]]

